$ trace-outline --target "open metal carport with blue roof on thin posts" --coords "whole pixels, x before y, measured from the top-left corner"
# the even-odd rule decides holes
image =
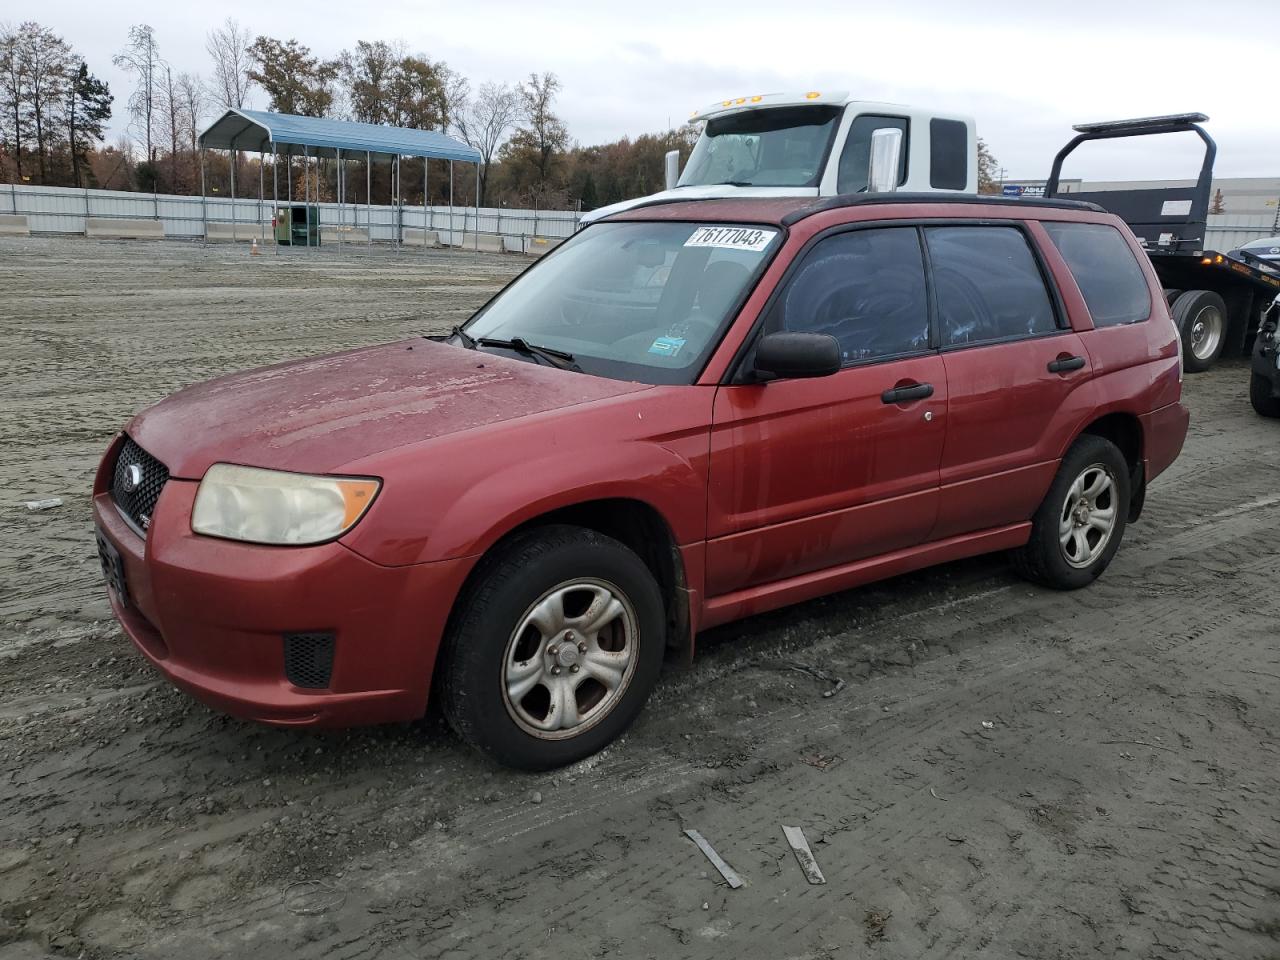
[[[422,230],[424,230],[424,244],[426,241],[426,207],[429,206],[428,197],[428,160],[448,160],[449,163],[449,234],[452,239],[453,234],[453,161],[460,160],[462,163],[470,163],[476,165],[476,248],[480,246],[480,151],[475,147],[470,147],[466,143],[448,137],[443,133],[435,131],[420,131],[408,127],[384,127],[375,123],[353,123],[349,120],[332,120],[324,116],[298,116],[296,114],[278,114],[270,113],[268,110],[228,110],[218,120],[210,124],[204,133],[200,134],[200,197],[201,197],[201,220],[204,221],[204,232],[207,239],[209,237],[209,210],[207,210],[207,197],[205,193],[205,151],[206,150],[228,150],[232,151],[233,159],[230,164],[230,178],[232,178],[232,234],[236,233],[236,216],[234,216],[234,200],[236,200],[236,151],[257,151],[259,154],[259,179],[257,179],[257,200],[259,200],[259,225],[261,228],[262,239],[266,239],[266,224],[261,215],[261,204],[264,202],[264,160],[266,157],[268,148],[271,152],[271,204],[273,211],[279,206],[279,174],[276,166],[276,154],[278,147],[302,147],[302,163],[303,163],[303,182],[306,193],[303,196],[303,202],[310,206],[311,197],[311,177],[310,177],[310,164],[315,159],[317,163],[321,157],[333,157],[338,163],[338,206],[339,206],[339,229],[338,229],[338,242],[342,243],[342,232],[346,229],[346,210],[347,210],[347,172],[344,160],[349,160],[352,155],[358,156],[365,155],[365,223],[366,230],[369,233],[369,243],[372,243],[372,224],[370,223],[372,216],[372,200],[371,183],[372,183],[372,160],[374,156],[387,156],[392,161],[392,204],[399,210],[401,205],[401,160],[403,157],[421,157],[422,159]],[[289,166],[287,172],[288,177],[288,196],[289,204],[293,202],[293,164],[292,152],[289,155]],[[319,202],[319,197],[316,198]],[[356,211],[358,207],[352,205],[352,227],[358,227]],[[274,212],[273,212],[274,215]],[[465,219],[465,218],[463,218]],[[397,224],[396,242],[401,242],[401,229],[403,224]],[[466,232],[466,224],[463,223],[463,233]],[[311,243],[311,230],[307,229],[307,246]]]

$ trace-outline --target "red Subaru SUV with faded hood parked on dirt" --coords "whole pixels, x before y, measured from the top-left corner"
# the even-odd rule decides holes
[[[1083,204],[708,200],[588,227],[447,337],[225,376],[93,488],[116,617],[268,723],[421,716],[585,756],[699,630],[1009,550],[1111,562],[1188,416],[1125,225]]]

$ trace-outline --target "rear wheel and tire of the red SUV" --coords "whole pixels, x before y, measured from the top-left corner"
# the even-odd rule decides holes
[[[1108,486],[1080,507],[1080,494],[1088,493],[1098,476],[1103,476]],[[1124,454],[1110,440],[1083,434],[1062,457],[1044,502],[1032,517],[1030,539],[1012,552],[1014,570],[1027,580],[1055,590],[1088,586],[1120,549],[1129,500],[1129,465]],[[1092,507],[1088,506],[1091,502]],[[1100,518],[1108,506],[1111,524],[1106,532],[1094,525],[1082,526],[1084,520]],[[1064,530],[1068,531],[1066,543],[1062,541]],[[1098,534],[1096,541],[1094,532]]]

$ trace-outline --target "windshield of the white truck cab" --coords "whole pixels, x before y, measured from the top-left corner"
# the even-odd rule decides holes
[[[838,106],[780,106],[708,120],[680,186],[817,187],[838,116]]]

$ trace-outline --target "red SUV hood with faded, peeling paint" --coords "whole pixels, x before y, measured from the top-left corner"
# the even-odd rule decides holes
[[[188,387],[128,433],[172,476],[191,480],[216,462],[333,472],[404,444],[644,389],[416,339]]]

